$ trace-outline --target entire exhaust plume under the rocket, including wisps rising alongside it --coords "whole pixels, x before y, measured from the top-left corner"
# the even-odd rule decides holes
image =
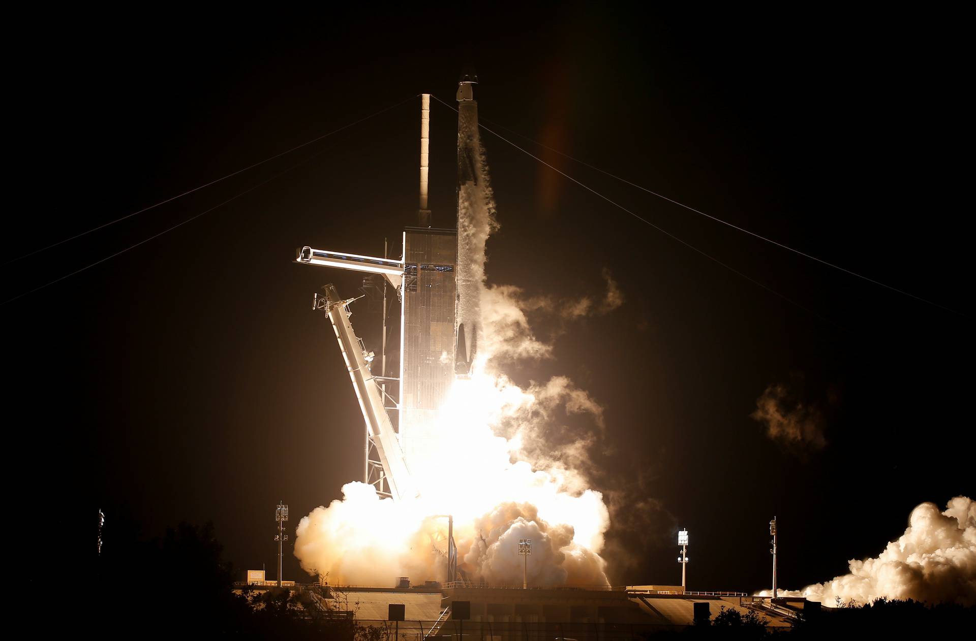
[[[531,539],[531,584],[608,583],[599,551],[609,513],[581,467],[594,434],[603,429],[603,409],[564,377],[523,389],[501,364],[551,356],[551,345],[535,338],[527,312],[578,318],[616,308],[623,296],[608,271],[599,304],[590,298],[524,300],[517,288],[487,287],[485,242],[498,225],[483,152],[476,171],[477,189],[461,192],[468,221],[459,229],[459,270],[463,247],[464,260],[471,261],[466,277],[473,274],[480,295],[480,309],[464,311],[480,318],[483,332],[471,377],[455,381],[437,424],[429,426],[429,447],[408,461],[420,488],[417,499],[380,500],[372,486],[352,482],[343,487],[342,501],[301,520],[295,554],[309,574],[337,584],[389,585],[400,576],[443,581],[447,519],[438,515],[452,514],[459,567],[468,580],[520,584],[517,544]],[[459,288],[470,285],[459,280]],[[570,422],[590,427],[571,433]]]

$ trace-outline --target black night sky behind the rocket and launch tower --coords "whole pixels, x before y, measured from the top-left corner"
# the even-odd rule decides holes
[[[972,493],[971,206],[957,157],[968,148],[970,102],[957,17],[374,9],[23,20],[20,56],[8,58],[17,162],[6,254],[422,92],[452,101],[470,64],[483,119],[968,316],[526,143],[801,309],[484,135],[502,225],[489,241],[489,282],[599,296],[606,267],[626,299],[571,326],[552,362],[513,372],[520,381],[565,374],[588,389],[606,407],[611,452],[608,487],[597,489],[630,486],[630,497],[658,501],[631,519],[644,530],[611,527],[612,581],[679,581],[682,525],[691,586],[765,587],[774,514],[781,584],[824,581],[900,535],[916,503]],[[295,526],[359,477],[359,410],[332,334],[310,311],[318,287],[354,293],[359,278],[292,260],[306,244],[380,254],[384,237],[413,223],[418,111],[410,100],[3,266],[6,300],[307,161],[0,309],[7,460],[20,470],[11,487],[33,504],[47,551],[32,573],[60,575],[73,533],[100,506],[109,523],[132,519],[145,536],[212,520],[238,568],[270,569],[275,502],[291,505]],[[431,118],[430,204],[435,224],[451,226],[456,120],[436,103]],[[378,318],[360,318],[375,344]],[[825,449],[784,449],[750,418],[776,382],[822,409]],[[468,456],[446,461],[450,482],[474,482]],[[285,574],[305,578],[290,553]]]

